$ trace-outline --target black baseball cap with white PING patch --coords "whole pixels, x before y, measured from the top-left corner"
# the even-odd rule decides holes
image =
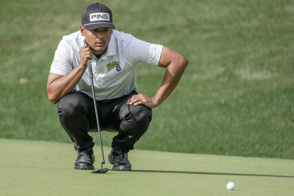
[[[101,3],[87,6],[82,12],[82,25],[87,30],[96,28],[115,28],[111,10]]]

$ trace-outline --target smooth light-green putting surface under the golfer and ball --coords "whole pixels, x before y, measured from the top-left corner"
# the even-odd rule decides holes
[[[93,174],[73,169],[69,144],[0,139],[0,148],[3,196],[294,195],[294,160],[133,150],[132,172]],[[94,153],[99,168],[98,145]]]

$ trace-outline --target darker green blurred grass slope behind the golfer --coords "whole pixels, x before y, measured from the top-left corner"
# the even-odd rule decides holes
[[[101,0],[118,30],[185,55],[172,95],[153,110],[138,149],[294,159],[293,0]],[[63,35],[90,0],[4,0],[0,8],[0,137],[71,142],[46,82]],[[140,65],[153,95],[164,69]],[[110,146],[112,134],[103,134]]]

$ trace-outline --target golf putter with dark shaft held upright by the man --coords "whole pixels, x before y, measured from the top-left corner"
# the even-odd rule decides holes
[[[86,39],[84,39],[84,44],[87,44]],[[92,63],[91,63],[91,59],[89,59],[89,58],[87,60],[87,65],[88,65],[89,77],[90,77],[91,87],[92,87],[92,94],[93,94],[96,121],[97,121],[99,141],[100,141],[100,149],[101,149],[101,155],[102,155],[101,169],[95,169],[91,173],[106,173],[106,172],[108,172],[108,168],[103,168],[103,164],[105,164],[105,159],[104,159],[104,153],[103,153],[103,147],[102,147],[101,131],[100,131],[100,125],[99,125],[99,119],[98,119],[98,110],[97,110],[97,104],[96,104],[96,96],[95,96],[94,84],[93,84]]]

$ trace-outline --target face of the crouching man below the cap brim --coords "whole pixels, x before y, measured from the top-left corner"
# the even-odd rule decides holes
[[[112,28],[96,28],[89,31],[81,25],[80,31],[81,35],[85,36],[95,56],[105,53],[112,35]]]

